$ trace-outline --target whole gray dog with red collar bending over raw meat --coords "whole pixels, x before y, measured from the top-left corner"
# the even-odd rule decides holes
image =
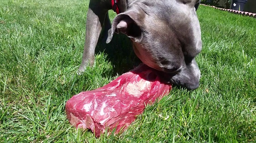
[[[147,66],[161,71],[165,82],[196,89],[200,70],[195,57],[202,49],[196,10],[200,0],[90,0],[86,37],[79,73],[93,66],[101,30],[126,34],[135,54]],[[112,24],[109,10],[118,15]]]

